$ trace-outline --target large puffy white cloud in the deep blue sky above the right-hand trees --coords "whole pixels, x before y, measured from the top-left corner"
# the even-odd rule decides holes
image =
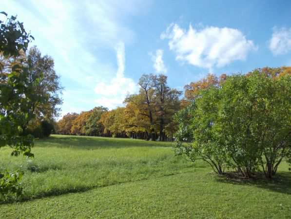
[[[245,60],[257,47],[241,31],[228,27],[205,27],[189,30],[172,23],[160,36],[169,39],[169,47],[176,53],[176,60],[203,67],[223,67],[235,60]]]

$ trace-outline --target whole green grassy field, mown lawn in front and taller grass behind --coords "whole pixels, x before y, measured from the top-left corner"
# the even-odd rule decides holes
[[[273,181],[218,177],[176,157],[169,142],[54,135],[35,158],[0,149],[0,168],[22,169],[24,196],[0,218],[291,218],[291,173]]]

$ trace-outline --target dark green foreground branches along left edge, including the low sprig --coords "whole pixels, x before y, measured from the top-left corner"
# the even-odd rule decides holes
[[[7,16],[5,12],[1,12]],[[25,52],[33,37],[25,31],[23,23],[11,16],[5,22],[0,21],[0,54],[4,59],[0,65],[0,148],[8,145],[11,155],[23,153],[32,157],[31,148],[34,137],[26,134],[28,122],[34,117],[30,106],[38,101],[33,85],[28,81],[27,66],[21,53]],[[21,173],[0,174],[0,195],[19,196]]]

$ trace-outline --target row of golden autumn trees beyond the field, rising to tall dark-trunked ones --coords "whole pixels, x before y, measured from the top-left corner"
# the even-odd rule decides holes
[[[167,76],[144,74],[139,92],[128,95],[124,107],[68,113],[57,123],[60,134],[131,137],[146,140],[173,140],[177,124],[174,115],[183,106],[181,91],[170,88]]]

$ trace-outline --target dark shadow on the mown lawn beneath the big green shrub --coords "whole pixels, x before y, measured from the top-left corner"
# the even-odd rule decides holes
[[[255,178],[246,179],[233,177],[230,175],[217,176],[216,180],[222,183],[231,183],[234,185],[255,186],[258,188],[270,190],[272,192],[291,195],[291,172],[279,172],[273,179],[266,179],[264,175],[257,175]]]

